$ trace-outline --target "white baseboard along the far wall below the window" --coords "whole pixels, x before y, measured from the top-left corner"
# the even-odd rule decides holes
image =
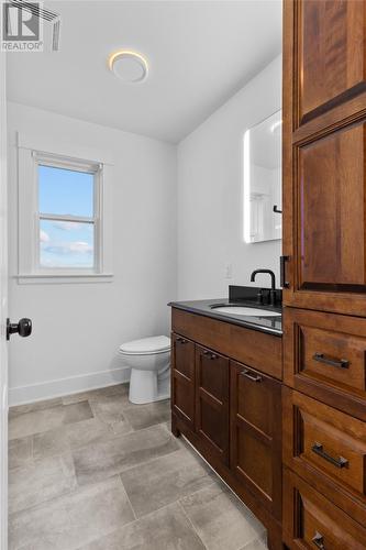
[[[40,384],[9,388],[9,406],[52,399],[63,395],[77,394],[88,389],[123,384],[130,380],[130,369],[113,369],[98,373],[80,374]]]

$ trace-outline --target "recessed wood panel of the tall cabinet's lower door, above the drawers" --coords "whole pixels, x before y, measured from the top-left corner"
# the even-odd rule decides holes
[[[299,288],[365,292],[365,124],[299,150]]]

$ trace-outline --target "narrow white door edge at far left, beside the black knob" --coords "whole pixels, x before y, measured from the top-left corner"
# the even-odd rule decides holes
[[[1,4],[0,4],[1,6]],[[8,212],[5,54],[0,52],[0,550],[8,549]]]

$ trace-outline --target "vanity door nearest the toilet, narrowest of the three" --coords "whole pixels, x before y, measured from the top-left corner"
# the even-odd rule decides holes
[[[195,344],[173,334],[171,409],[190,429],[195,429]]]

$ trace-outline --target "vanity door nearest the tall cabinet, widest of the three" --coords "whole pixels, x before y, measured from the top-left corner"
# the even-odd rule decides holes
[[[281,517],[281,384],[231,362],[230,463],[234,475]]]

